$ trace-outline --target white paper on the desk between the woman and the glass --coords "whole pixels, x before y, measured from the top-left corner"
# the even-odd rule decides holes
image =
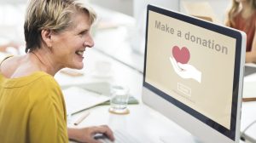
[[[67,114],[80,112],[109,100],[109,97],[93,91],[71,87],[63,91]]]

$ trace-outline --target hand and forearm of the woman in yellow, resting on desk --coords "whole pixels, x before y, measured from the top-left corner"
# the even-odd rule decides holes
[[[67,129],[68,138],[71,140],[77,140],[79,142],[87,143],[100,143],[99,140],[95,140],[95,134],[104,134],[109,140],[113,141],[113,132],[107,125],[93,126],[82,129]]]

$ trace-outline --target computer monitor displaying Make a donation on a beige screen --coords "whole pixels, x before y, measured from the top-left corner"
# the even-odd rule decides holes
[[[240,140],[244,32],[148,5],[143,102],[202,142]]]

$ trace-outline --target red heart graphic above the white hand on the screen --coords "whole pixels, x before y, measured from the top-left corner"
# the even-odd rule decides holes
[[[186,47],[179,49],[177,46],[173,46],[172,55],[177,62],[180,62],[182,64],[187,64],[189,62],[190,53],[189,49],[187,49]]]

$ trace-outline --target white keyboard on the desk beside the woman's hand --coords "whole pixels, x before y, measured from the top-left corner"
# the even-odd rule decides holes
[[[144,141],[138,139],[134,135],[129,134],[125,130],[115,129],[113,130],[114,141],[108,140],[107,137],[99,138],[97,140],[102,141],[102,143],[144,143]]]

